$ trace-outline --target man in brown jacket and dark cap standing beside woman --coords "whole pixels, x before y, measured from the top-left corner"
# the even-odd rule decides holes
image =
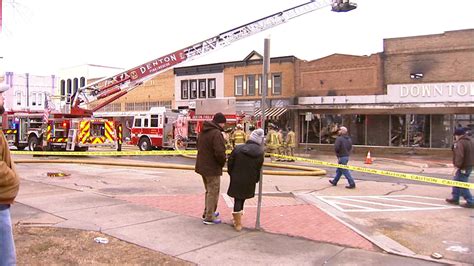
[[[203,213],[204,224],[219,224],[217,203],[222,176],[222,167],[225,165],[225,140],[222,136],[226,118],[222,113],[216,113],[212,121],[203,123],[202,131],[197,139],[196,173],[202,176],[206,189],[205,207]]]

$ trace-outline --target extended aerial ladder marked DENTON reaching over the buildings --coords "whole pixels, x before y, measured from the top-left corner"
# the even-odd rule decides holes
[[[357,7],[355,3],[351,3],[349,0],[314,0],[233,28],[204,41],[79,88],[72,96],[69,113],[73,116],[92,116],[93,112],[177,64],[194,60],[199,56],[226,47],[238,40],[327,6],[331,6],[332,11],[335,12],[347,12]],[[98,104],[90,109],[83,107],[96,101]]]

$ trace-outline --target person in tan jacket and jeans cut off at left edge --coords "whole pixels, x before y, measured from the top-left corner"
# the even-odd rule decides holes
[[[0,84],[0,114],[5,112],[3,92],[7,85]],[[0,130],[0,265],[16,265],[15,242],[13,240],[10,205],[20,188],[20,178],[10,156],[8,142]]]

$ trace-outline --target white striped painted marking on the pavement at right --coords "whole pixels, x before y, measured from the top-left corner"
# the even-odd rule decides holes
[[[444,202],[444,199],[413,195],[313,196],[342,212],[430,211],[460,208],[436,203]]]

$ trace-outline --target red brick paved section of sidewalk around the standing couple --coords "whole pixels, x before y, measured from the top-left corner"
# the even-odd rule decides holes
[[[119,199],[160,210],[200,218],[204,194],[162,196],[120,196]],[[244,227],[255,228],[257,198],[245,202]],[[232,224],[232,201],[220,196],[218,210],[224,223]],[[266,232],[303,237],[319,242],[375,251],[377,248],[338,220],[305,202],[292,197],[263,196],[260,216]]]

